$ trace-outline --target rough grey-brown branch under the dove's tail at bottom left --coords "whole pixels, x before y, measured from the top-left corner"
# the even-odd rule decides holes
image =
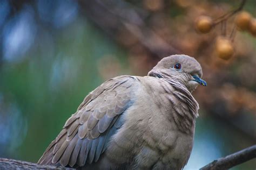
[[[73,168],[65,168],[55,165],[41,165],[21,160],[0,158],[0,169],[62,169],[71,170]]]

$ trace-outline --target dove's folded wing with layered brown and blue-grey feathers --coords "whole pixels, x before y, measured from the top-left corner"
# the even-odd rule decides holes
[[[97,162],[111,136],[123,124],[120,114],[132,104],[136,80],[119,76],[87,95],[38,163],[73,167]]]

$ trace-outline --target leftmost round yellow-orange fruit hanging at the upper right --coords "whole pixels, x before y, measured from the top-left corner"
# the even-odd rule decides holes
[[[208,33],[213,26],[212,18],[207,16],[201,16],[196,21],[196,28],[200,33]]]

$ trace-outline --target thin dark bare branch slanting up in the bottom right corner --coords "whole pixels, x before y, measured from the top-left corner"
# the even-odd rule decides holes
[[[200,170],[228,169],[242,164],[248,160],[256,158],[256,145],[245,148],[244,150],[227,155],[212,161],[210,164],[200,168]]]

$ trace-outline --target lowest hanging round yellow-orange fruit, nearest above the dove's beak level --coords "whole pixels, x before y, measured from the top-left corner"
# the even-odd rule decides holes
[[[216,40],[216,51],[219,58],[228,60],[234,54],[234,47],[229,39],[225,37],[219,37]]]

